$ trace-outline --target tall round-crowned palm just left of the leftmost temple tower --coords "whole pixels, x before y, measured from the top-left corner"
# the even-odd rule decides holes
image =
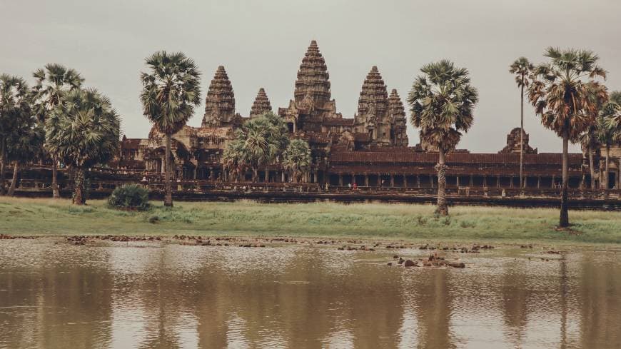
[[[164,205],[173,206],[171,137],[186,125],[194,107],[201,103],[201,73],[194,61],[181,52],[158,51],[147,57],[146,65],[150,72],[140,75],[140,100],[144,116],[166,135]]]

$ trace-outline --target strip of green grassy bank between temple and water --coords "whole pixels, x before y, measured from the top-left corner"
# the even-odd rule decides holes
[[[155,203],[147,212],[116,211],[105,201],[72,206],[51,199],[0,198],[0,233],[11,235],[263,235],[621,243],[621,213],[570,211],[572,231],[555,231],[552,209],[450,208],[403,204]]]

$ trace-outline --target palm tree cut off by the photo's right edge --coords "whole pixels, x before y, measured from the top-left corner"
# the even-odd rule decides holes
[[[610,93],[610,101],[608,101],[600,111],[597,116],[597,141],[602,146],[605,146],[606,150],[606,175],[604,176],[603,181],[600,183],[603,184],[604,188],[607,189],[609,187],[608,183],[608,171],[609,163],[610,163],[610,146],[612,144],[621,141],[621,92],[615,91]]]

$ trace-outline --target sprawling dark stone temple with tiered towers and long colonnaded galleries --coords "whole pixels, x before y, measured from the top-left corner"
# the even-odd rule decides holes
[[[235,108],[233,86],[223,66],[216,70],[206,96],[201,127],[185,126],[173,135],[174,176],[180,180],[226,182],[230,180],[221,164],[221,154],[234,131],[249,118],[273,111],[263,88],[258,90],[248,116]],[[328,186],[435,188],[434,149],[418,144],[408,146],[406,114],[397,92],[384,84],[380,71],[373,66],[362,83],[358,112],[353,118],[338,113],[330,93],[328,67],[317,43],[311,41],[286,108],[276,111],[286,121],[291,138],[303,138],[312,150],[312,166],[306,183]],[[527,188],[557,188],[561,181],[561,154],[538,153],[524,135],[524,173]],[[598,150],[596,163],[602,157]],[[607,173],[609,188],[620,188],[619,158],[621,147],[612,149],[614,156]],[[164,139],[152,128],[147,139],[123,137],[121,153],[111,166],[147,178],[163,174]],[[496,153],[470,153],[457,150],[447,157],[448,188],[485,187],[519,188],[520,128],[507,136],[507,146]],[[570,188],[589,188],[590,171],[583,153],[569,156]],[[606,176],[597,167],[593,180]],[[250,181],[251,173],[246,179]],[[286,171],[266,166],[260,171],[260,182],[288,181]]]

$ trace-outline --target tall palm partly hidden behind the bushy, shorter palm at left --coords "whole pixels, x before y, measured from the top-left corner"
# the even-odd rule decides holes
[[[68,92],[80,88],[84,79],[74,69],[68,69],[61,64],[46,64],[43,69],[37,69],[32,74],[36,79],[34,86],[34,100],[39,121],[45,123],[55,106],[61,103],[63,96]],[[58,158],[52,157],[52,196],[59,198],[59,184],[57,176]]]

